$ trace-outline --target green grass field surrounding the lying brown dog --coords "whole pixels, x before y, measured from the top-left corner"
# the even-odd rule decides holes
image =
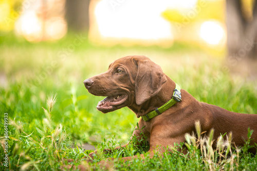
[[[87,39],[72,46],[76,37],[69,35],[58,42],[31,44],[10,35],[1,35],[0,41],[0,120],[1,144],[4,139],[4,113],[8,113],[8,157],[5,167],[4,148],[0,150],[0,169],[3,170],[60,170],[62,158],[83,163],[84,151],[77,145],[89,143],[98,149],[114,148],[129,141],[136,123],[135,114],[127,108],[102,114],[96,105],[103,97],[87,92],[83,80],[105,72],[109,63],[126,55],[146,55],[158,63],[164,73],[187,90],[197,100],[221,106],[224,109],[257,114],[256,82],[228,72],[224,58],[205,53],[199,48],[175,44],[172,49],[158,47],[96,47]],[[6,40],[6,41],[5,41]],[[68,49],[69,48],[69,49]],[[57,94],[51,109],[47,97]],[[49,102],[48,102],[49,103]],[[45,109],[43,109],[43,108]],[[115,136],[115,137],[114,137]],[[196,138],[196,141],[199,139]],[[132,140],[135,142],[135,140]],[[228,158],[207,160],[193,143],[188,155],[175,151],[153,159],[147,158],[148,146],[128,146],[114,154],[100,154],[89,169],[106,157],[133,156],[145,153],[141,159],[114,164],[118,170],[255,170],[257,157],[243,150],[232,151]],[[181,144],[179,144],[181,145]],[[179,148],[178,145],[178,148]],[[75,146],[75,148],[74,148]],[[199,146],[199,145],[198,145]],[[215,156],[213,155],[213,156]],[[230,156],[230,157],[229,157]],[[232,157],[231,157],[232,156]]]

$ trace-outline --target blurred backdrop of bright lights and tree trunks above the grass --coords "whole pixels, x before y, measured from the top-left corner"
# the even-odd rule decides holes
[[[30,42],[56,41],[69,31],[88,32],[90,43],[105,46],[185,42],[256,58],[256,8],[254,0],[2,0],[0,31]],[[249,50],[240,52],[244,46]]]

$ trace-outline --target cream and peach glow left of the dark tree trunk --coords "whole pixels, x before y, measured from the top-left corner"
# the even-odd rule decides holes
[[[36,0],[29,3],[28,7],[25,8],[15,23],[16,33],[24,36],[28,41],[56,40],[62,38],[67,32],[67,23],[63,14],[58,13],[56,8],[64,8],[64,3],[64,0],[48,1],[45,4],[45,9],[49,10],[47,11],[47,15],[42,10],[41,1]]]

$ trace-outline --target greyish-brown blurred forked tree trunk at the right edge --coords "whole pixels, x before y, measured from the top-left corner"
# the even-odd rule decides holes
[[[226,0],[228,55],[231,60],[257,59],[257,2]]]

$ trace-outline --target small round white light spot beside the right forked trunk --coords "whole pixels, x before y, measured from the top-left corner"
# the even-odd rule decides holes
[[[221,44],[225,39],[225,31],[221,23],[216,21],[204,22],[200,27],[200,37],[210,45]]]

